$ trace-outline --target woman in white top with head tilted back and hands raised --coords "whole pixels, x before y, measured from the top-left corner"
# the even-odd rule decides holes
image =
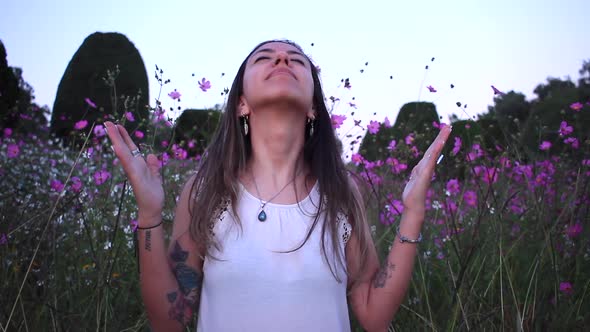
[[[397,241],[379,268],[362,196],[341,160],[318,72],[296,44],[261,43],[233,82],[226,111],[178,201],[166,251],[164,191],[107,122],[138,204],[140,281],[155,331],[385,331],[409,284],[425,196],[450,128],[403,192]]]

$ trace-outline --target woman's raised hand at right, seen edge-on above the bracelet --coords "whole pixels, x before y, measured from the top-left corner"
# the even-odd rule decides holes
[[[426,193],[430,187],[434,167],[450,134],[451,126],[444,125],[434,142],[424,153],[422,160],[412,169],[410,180],[402,194],[404,212],[424,214]]]

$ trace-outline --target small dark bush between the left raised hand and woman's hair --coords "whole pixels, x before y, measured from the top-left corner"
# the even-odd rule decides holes
[[[175,143],[186,149],[189,156],[203,153],[220,119],[221,110],[218,108],[184,110],[176,120]],[[190,142],[193,143],[192,148],[188,147]]]

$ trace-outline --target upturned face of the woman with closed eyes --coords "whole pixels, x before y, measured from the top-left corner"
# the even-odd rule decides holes
[[[295,46],[271,42],[260,46],[248,59],[241,102],[249,110],[276,105],[309,112],[313,90],[307,57]]]

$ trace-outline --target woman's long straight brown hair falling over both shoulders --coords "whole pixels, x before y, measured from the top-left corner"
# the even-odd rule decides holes
[[[190,234],[192,238],[204,248],[214,247],[221,250],[221,246],[211,232],[212,222],[215,222],[214,215],[219,211],[219,206],[224,199],[229,198],[234,216],[237,216],[236,207],[239,195],[238,176],[246,169],[246,163],[252,155],[250,136],[242,132],[242,124],[238,117],[239,98],[243,94],[244,72],[246,63],[250,56],[262,45],[271,42],[282,42],[292,45],[304,53],[301,47],[288,40],[269,40],[257,45],[246,57],[240,66],[228,94],[227,105],[221,116],[217,130],[213,135],[211,143],[197,169],[196,176],[191,187],[191,224]],[[307,57],[307,56],[306,56]],[[309,128],[305,128],[305,143],[303,147],[304,161],[309,165],[311,176],[318,179],[319,193],[322,199],[319,200],[318,213],[307,233],[303,243],[293,250],[300,249],[310,238],[313,230],[318,224],[322,211],[326,214],[326,222],[321,229],[322,254],[330,266],[332,274],[339,280],[335,264],[345,267],[345,259],[339,247],[338,215],[340,213],[348,217],[354,233],[359,241],[361,266],[358,271],[348,271],[349,277],[358,279],[364,270],[369,253],[370,231],[366,220],[363,200],[354,181],[349,177],[348,171],[342,161],[340,150],[330,114],[324,102],[324,93],[320,84],[318,70],[311,59],[311,74],[313,77],[314,93],[313,105],[317,112],[314,134],[309,135]],[[309,126],[309,125],[306,125]],[[236,222],[240,224],[238,218]],[[326,232],[331,238],[334,260],[330,260],[326,253],[325,237]],[[214,258],[209,250],[205,255]],[[346,270],[346,269],[345,269]]]

